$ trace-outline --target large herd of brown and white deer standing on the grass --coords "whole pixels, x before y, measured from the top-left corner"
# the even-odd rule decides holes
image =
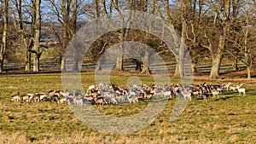
[[[18,92],[13,95],[11,101],[39,102],[55,101],[59,104],[84,106],[108,105],[135,103],[148,101],[157,98],[167,98],[172,100],[175,97],[183,97],[185,101],[195,100],[208,101],[209,97],[219,98],[225,93],[238,92],[239,96],[246,95],[246,89],[241,88],[242,84],[131,84],[122,88],[117,84],[96,84],[90,85],[86,93],[80,89],[49,90],[48,93],[35,93],[20,95]]]

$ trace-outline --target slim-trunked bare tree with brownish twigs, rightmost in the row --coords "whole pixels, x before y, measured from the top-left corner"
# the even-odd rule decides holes
[[[241,60],[247,66],[247,79],[250,79],[251,69],[253,66],[253,57],[255,56],[255,16],[253,9],[255,5],[248,1],[247,3],[241,4],[236,3],[236,9],[240,9],[241,16],[236,14],[236,22],[234,22],[232,29],[230,30],[230,37],[227,37],[229,45],[232,46],[228,52],[228,55],[233,60]]]

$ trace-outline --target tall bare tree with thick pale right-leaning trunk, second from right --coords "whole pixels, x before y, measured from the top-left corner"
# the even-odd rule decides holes
[[[208,2],[209,9],[213,16],[208,16],[201,26],[202,36],[206,40],[202,40],[200,46],[209,50],[212,58],[212,69],[210,78],[218,78],[219,67],[223,58],[226,37],[230,26],[230,9],[231,1],[211,1]],[[208,25],[210,24],[210,25]],[[218,38],[217,38],[218,37]]]

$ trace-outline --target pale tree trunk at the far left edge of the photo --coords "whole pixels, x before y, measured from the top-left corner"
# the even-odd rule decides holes
[[[8,31],[8,14],[9,14],[9,0],[3,0],[3,37],[0,49],[0,72],[3,72],[3,60],[7,46],[7,31]]]

